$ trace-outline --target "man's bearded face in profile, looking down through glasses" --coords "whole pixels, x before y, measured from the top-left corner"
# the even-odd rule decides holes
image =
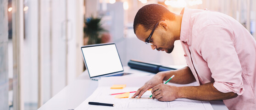
[[[145,42],[146,38],[149,37],[152,30],[145,31],[146,29],[139,25],[136,30],[136,36],[139,40]],[[174,37],[171,32],[168,33],[168,29],[165,29],[161,26],[158,26],[152,37],[150,38],[150,43],[152,49],[156,49],[158,51],[165,51],[166,53],[171,53],[174,48]]]

